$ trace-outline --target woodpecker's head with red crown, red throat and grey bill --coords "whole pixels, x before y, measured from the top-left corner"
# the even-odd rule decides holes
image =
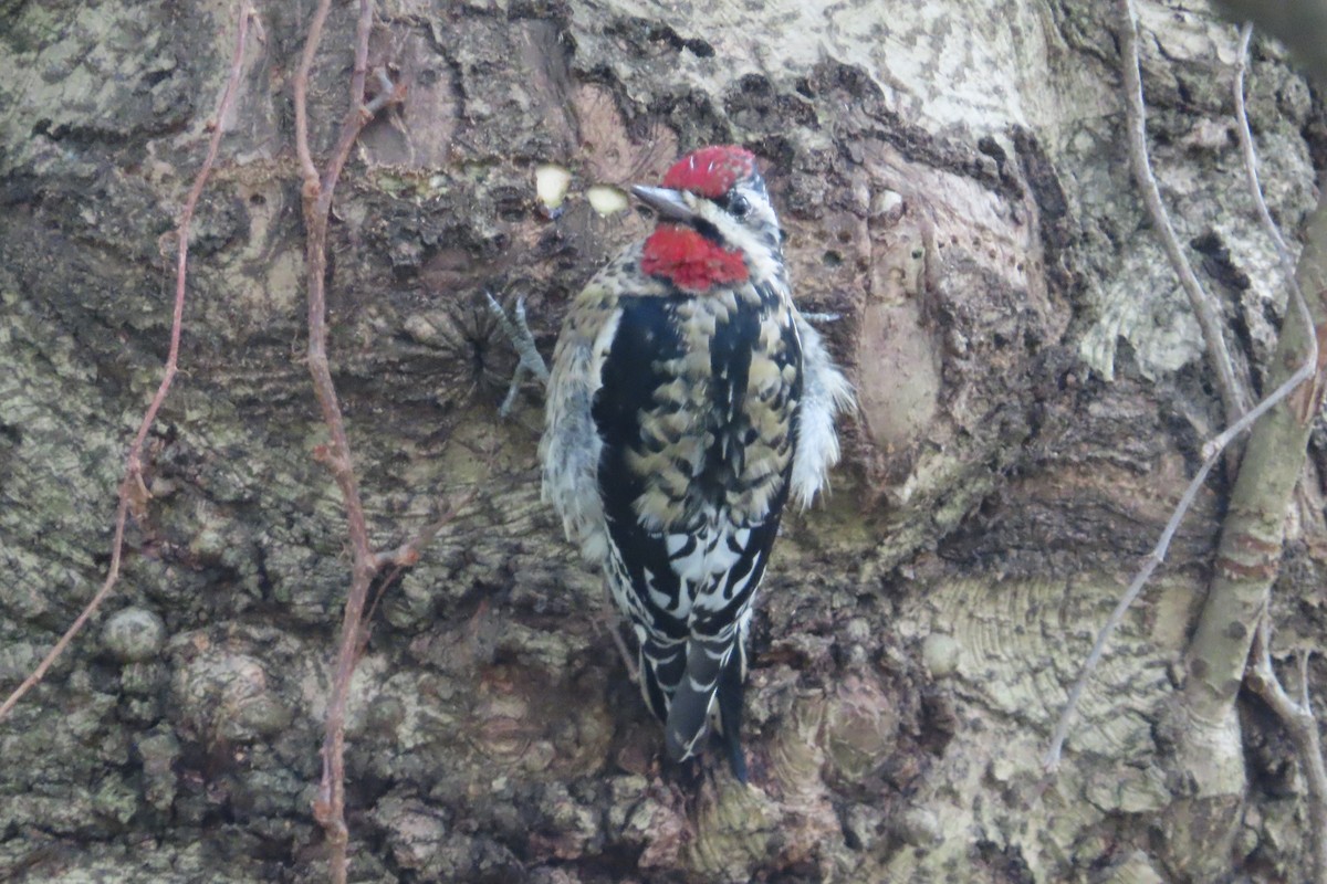
[[[783,273],[779,219],[751,151],[702,147],[674,163],[662,187],[632,192],[658,213],[641,257],[650,276],[703,293]]]

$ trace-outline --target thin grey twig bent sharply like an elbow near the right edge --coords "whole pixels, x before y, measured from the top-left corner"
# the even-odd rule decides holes
[[[1277,248],[1277,254],[1281,258],[1281,268],[1282,272],[1286,274],[1291,304],[1294,305],[1294,309],[1299,314],[1299,318],[1303,322],[1304,327],[1312,329],[1314,323],[1312,323],[1312,317],[1308,311],[1308,304],[1304,301],[1303,292],[1300,290],[1299,282],[1295,278],[1295,262],[1290,257],[1290,250],[1286,248],[1286,243],[1282,239],[1281,232],[1277,229],[1275,223],[1271,220],[1271,213],[1267,211],[1267,203],[1263,200],[1262,196],[1262,186],[1258,183],[1258,158],[1257,154],[1254,152],[1253,137],[1249,133],[1249,117],[1246,114],[1245,101],[1243,101],[1243,68],[1249,49],[1249,36],[1250,36],[1250,29],[1246,27],[1243,33],[1241,34],[1239,64],[1234,80],[1235,123],[1237,123],[1235,129],[1239,131],[1239,143],[1242,147],[1243,160],[1245,160],[1245,175],[1249,183],[1250,196],[1253,197],[1254,205],[1258,208],[1258,216],[1262,221],[1263,231],[1267,233],[1269,237],[1271,237],[1271,241]],[[1125,62],[1125,66],[1128,68],[1128,62]],[[1143,159],[1144,162],[1147,162],[1145,155]],[[1096,643],[1092,645],[1092,651],[1091,653],[1088,653],[1088,657],[1083,664],[1083,669],[1079,673],[1078,680],[1070,689],[1068,700],[1064,704],[1064,709],[1060,712],[1059,721],[1055,725],[1055,733],[1051,737],[1051,746],[1046,753],[1044,765],[1048,771],[1054,771],[1059,766],[1060,754],[1064,747],[1064,741],[1068,737],[1070,726],[1074,722],[1075,710],[1078,709],[1078,704],[1083,697],[1083,691],[1087,687],[1088,679],[1091,677],[1092,672],[1096,671],[1096,667],[1100,664],[1101,655],[1105,652],[1107,643],[1115,634],[1115,630],[1119,628],[1120,623],[1124,620],[1125,612],[1128,612],[1133,602],[1137,600],[1139,594],[1143,591],[1143,587],[1147,586],[1147,582],[1152,577],[1152,573],[1165,559],[1166,550],[1170,546],[1170,539],[1174,537],[1174,533],[1178,529],[1185,514],[1188,514],[1188,510],[1193,505],[1193,500],[1197,496],[1198,488],[1202,486],[1202,482],[1206,480],[1208,473],[1212,470],[1212,467],[1217,463],[1217,459],[1225,451],[1226,445],[1230,444],[1230,440],[1233,440],[1241,432],[1253,427],[1254,421],[1257,421],[1257,419],[1262,414],[1265,414],[1269,408],[1271,408],[1281,400],[1286,399],[1286,396],[1294,392],[1294,390],[1296,390],[1302,383],[1316,375],[1318,342],[1315,335],[1311,333],[1307,335],[1307,338],[1308,338],[1308,354],[1304,358],[1303,364],[1285,383],[1277,387],[1275,391],[1273,391],[1269,396],[1262,399],[1262,402],[1259,402],[1251,411],[1246,412],[1238,420],[1235,420],[1229,429],[1222,432],[1220,436],[1209,440],[1202,447],[1202,456],[1204,456],[1202,467],[1198,469],[1198,473],[1193,477],[1193,481],[1189,482],[1189,486],[1185,489],[1184,496],[1180,498],[1180,504],[1170,514],[1170,520],[1166,522],[1165,530],[1161,533],[1161,539],[1157,541],[1156,547],[1148,555],[1147,561],[1143,565],[1143,569],[1133,578],[1133,582],[1129,584],[1129,588],[1125,591],[1124,596],[1120,599],[1115,610],[1111,612],[1111,616],[1107,619],[1105,626],[1103,626],[1100,632],[1097,632]]]

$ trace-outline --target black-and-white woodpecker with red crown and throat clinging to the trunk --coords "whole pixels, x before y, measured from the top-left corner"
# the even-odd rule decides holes
[[[734,774],[751,603],[791,496],[839,460],[852,402],[792,304],[755,156],[693,151],[633,187],[658,224],[576,297],[548,379],[543,493],[604,571],[673,761],[718,713]],[[717,706],[717,709],[715,709]]]

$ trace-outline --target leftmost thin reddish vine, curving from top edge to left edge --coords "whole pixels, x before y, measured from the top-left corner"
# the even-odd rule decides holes
[[[180,331],[184,325],[184,292],[186,280],[188,269],[188,231],[194,220],[194,211],[198,208],[198,200],[203,195],[203,187],[207,184],[207,179],[212,172],[212,164],[216,162],[216,152],[222,144],[222,133],[226,115],[230,113],[231,105],[235,99],[235,91],[239,89],[240,76],[244,72],[244,44],[248,37],[249,20],[256,20],[257,12],[247,3],[242,1],[239,4],[239,27],[235,32],[235,53],[231,57],[231,74],[226,81],[226,90],[222,93],[222,99],[216,106],[216,115],[212,126],[212,137],[207,143],[207,156],[203,159],[203,166],[198,170],[198,175],[194,178],[194,187],[190,188],[188,196],[184,199],[184,208],[180,211],[179,224],[175,228],[175,239],[178,244],[176,261],[175,261],[175,307],[171,313],[171,330],[170,330],[170,353],[166,357],[166,367],[162,372],[161,383],[157,387],[157,394],[153,396],[151,404],[147,406],[147,411],[143,414],[142,421],[138,424],[138,433],[134,436],[134,441],[129,447],[129,453],[125,457],[125,477],[119,482],[119,505],[115,508],[115,537],[111,541],[110,547],[110,567],[106,571],[106,579],[102,582],[101,588],[93,595],[92,600],[82,610],[78,618],[65,630],[65,634],[60,636],[54,647],[42,657],[37,668],[23,680],[15,691],[5,698],[4,704],[0,704],[0,721],[9,714],[13,706],[28,693],[41,679],[46,675],[54,661],[64,653],[69,643],[73,641],[74,636],[86,626],[88,620],[97,612],[102,602],[110,595],[110,591],[115,587],[119,579],[119,563],[125,549],[125,524],[129,520],[129,514],[133,510],[135,517],[143,514],[143,509],[147,505],[147,500],[151,493],[147,490],[143,482],[143,447],[147,443],[147,433],[151,432],[153,423],[157,420],[157,414],[161,411],[162,404],[166,402],[166,394],[170,392],[171,382],[175,380],[175,374],[179,368],[179,339]]]

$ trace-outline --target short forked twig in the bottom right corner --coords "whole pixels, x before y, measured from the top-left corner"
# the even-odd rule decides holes
[[[1277,679],[1271,665],[1271,628],[1263,615],[1258,635],[1250,653],[1245,684],[1262,697],[1290,734],[1290,742],[1299,755],[1299,769],[1308,785],[1308,826],[1312,830],[1310,842],[1314,852],[1314,884],[1327,884],[1327,766],[1323,765],[1322,740],[1318,736],[1318,720],[1308,706],[1307,656],[1300,657],[1300,702],[1290,694]]]

